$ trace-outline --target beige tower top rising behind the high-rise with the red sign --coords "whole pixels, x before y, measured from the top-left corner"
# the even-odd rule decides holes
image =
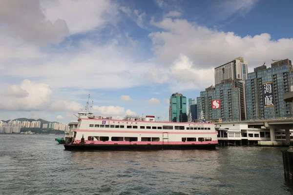
[[[226,79],[247,79],[247,62],[243,57],[233,59],[232,61],[215,68],[215,85],[222,83]]]

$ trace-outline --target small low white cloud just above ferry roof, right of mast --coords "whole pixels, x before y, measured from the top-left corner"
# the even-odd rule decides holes
[[[136,115],[135,112],[120,106],[93,106],[93,113],[95,116],[119,117],[120,119],[126,115]]]

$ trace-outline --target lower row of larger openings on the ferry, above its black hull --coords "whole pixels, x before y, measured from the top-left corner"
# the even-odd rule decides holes
[[[109,141],[109,137],[99,137],[99,136],[89,136],[87,137],[89,141]],[[111,137],[111,141],[137,141],[137,137]],[[186,141],[196,141],[196,137],[182,137],[183,142]],[[160,137],[141,137],[141,141],[160,141]],[[211,141],[211,137],[198,137],[198,141]]]

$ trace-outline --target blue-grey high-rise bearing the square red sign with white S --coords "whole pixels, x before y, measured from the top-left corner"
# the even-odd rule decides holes
[[[245,81],[222,80],[200,92],[197,98],[197,116],[203,114],[209,121],[232,121],[246,119]]]

